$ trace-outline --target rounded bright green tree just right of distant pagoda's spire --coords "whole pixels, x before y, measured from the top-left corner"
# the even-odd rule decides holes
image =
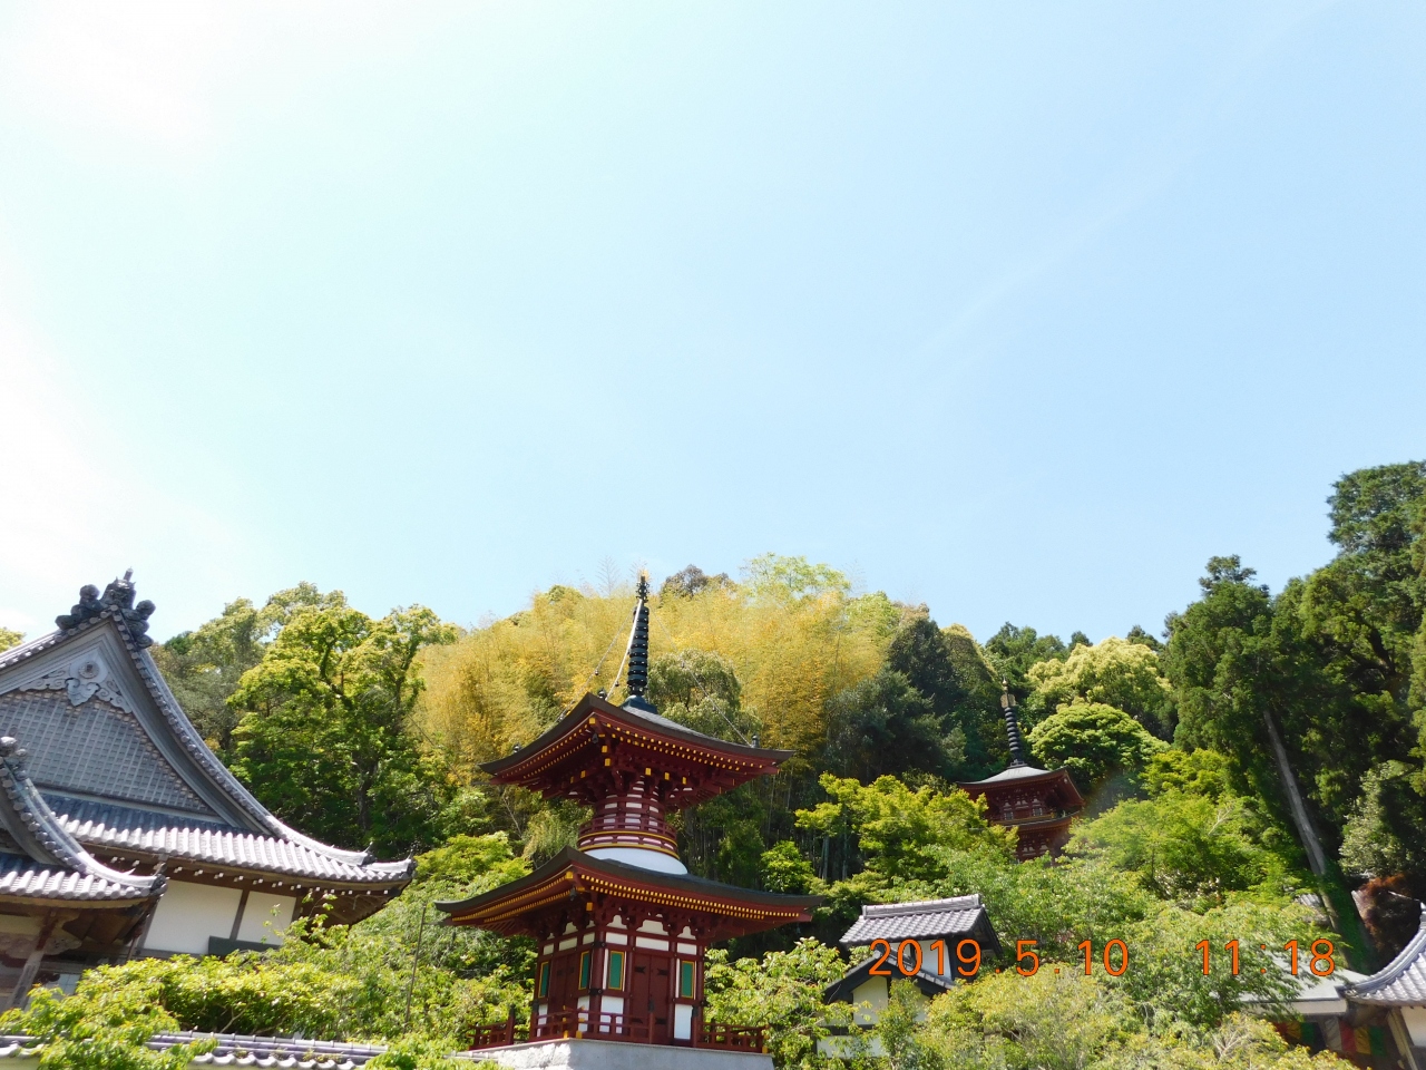
[[[1030,749],[1047,768],[1067,769],[1075,786],[1091,795],[1115,773],[1138,773],[1164,743],[1122,709],[1077,702],[1035,725]]]

